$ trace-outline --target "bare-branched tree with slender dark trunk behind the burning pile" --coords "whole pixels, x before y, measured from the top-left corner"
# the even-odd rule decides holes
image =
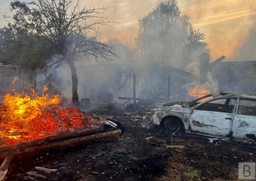
[[[107,18],[101,16],[104,8],[81,7],[79,1],[72,7],[73,0],[37,0],[29,3],[13,1],[11,9],[14,26],[36,33],[47,40],[56,56],[48,64],[47,69],[67,62],[72,73],[72,102],[79,103],[77,94],[78,78],[76,62],[89,61],[93,56],[100,59],[113,60],[117,55],[114,47],[100,41],[99,26],[110,26]],[[57,58],[56,58],[57,57]]]

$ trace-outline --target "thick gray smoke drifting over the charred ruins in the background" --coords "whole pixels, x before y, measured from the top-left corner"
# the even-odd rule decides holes
[[[187,18],[187,16],[184,16],[183,18]],[[159,18],[159,21],[160,20],[162,19]],[[158,24],[158,22],[155,23]],[[157,26],[154,26],[153,28],[154,35],[161,34],[161,29],[159,29]],[[178,31],[177,28],[170,28],[170,30]],[[171,35],[179,35],[179,32],[172,32]],[[189,36],[193,35],[189,34]],[[150,37],[147,38],[150,39]],[[125,88],[121,87],[123,80],[131,70],[133,70],[133,73],[137,74],[137,95],[146,86],[153,92],[151,85],[148,85],[147,77],[149,77],[149,79],[151,80],[152,85],[155,86],[156,91],[167,92],[167,77],[168,75],[170,75],[171,94],[178,95],[177,99],[184,99],[188,92],[195,88],[195,86],[200,82],[193,79],[185,78],[173,72],[171,69],[172,67],[178,68],[200,76],[201,74],[199,69],[199,56],[201,53],[204,52],[209,53],[209,49],[204,47],[205,44],[202,44],[201,46],[200,43],[197,41],[197,43],[195,44],[189,43],[187,46],[183,47],[184,50],[182,51],[180,51],[179,47],[179,51],[176,51],[177,56],[170,57],[167,56],[167,54],[170,54],[168,53],[170,52],[170,49],[175,49],[177,47],[166,47],[166,45],[168,45],[167,40],[168,39],[165,37],[159,39],[154,45],[156,49],[154,48],[154,46],[153,49],[150,49],[151,56],[148,56],[148,54],[144,56],[143,53],[136,54],[137,50],[133,46],[131,46],[132,44],[123,45],[119,43],[118,40],[110,40],[110,44],[116,45],[116,53],[118,54],[119,58],[115,58],[115,60],[113,60],[112,62],[103,61],[102,65],[94,63],[93,60],[91,60],[90,64],[76,65],[77,75],[79,78],[78,93],[80,100],[83,98],[90,98],[119,102],[119,96],[131,97],[132,94],[130,88],[132,85],[130,86],[130,88],[129,86],[126,87],[126,92]],[[146,45],[146,47],[150,46],[150,44]],[[238,49],[237,56],[233,59],[229,58],[228,61],[255,60],[255,50],[256,23],[253,27],[251,27],[250,34],[247,37],[247,41]],[[159,61],[158,58],[155,57],[164,58],[162,58],[163,60],[160,60],[160,58]],[[154,59],[154,61],[152,61],[152,59]],[[210,92],[221,90],[225,92],[250,93],[245,90],[247,89],[245,88],[246,86],[238,86],[236,83],[237,79],[240,82],[245,82],[243,80],[244,77],[241,76],[241,74],[243,74],[243,69],[246,69],[247,65],[241,66],[242,64],[230,64],[225,61],[227,60],[224,60],[220,64],[216,65],[212,69],[212,72],[209,71],[206,74],[207,81],[200,84],[200,90],[210,90]],[[72,82],[69,67],[67,65],[64,65],[60,68],[57,68],[56,77],[57,79],[61,80],[61,83],[58,86],[60,87],[61,93],[64,94],[65,97],[71,99]],[[132,76],[131,84],[133,84]],[[253,84],[253,82],[251,82],[251,80],[247,80],[246,85],[250,84]]]

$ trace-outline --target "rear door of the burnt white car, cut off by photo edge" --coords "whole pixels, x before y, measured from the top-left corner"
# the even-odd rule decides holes
[[[233,137],[251,138],[256,141],[256,100],[240,98],[234,116]]]

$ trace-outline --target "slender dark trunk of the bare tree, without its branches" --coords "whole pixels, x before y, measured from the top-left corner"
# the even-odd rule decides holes
[[[68,64],[71,69],[72,75],[72,103],[75,106],[79,106],[79,96],[77,94],[77,86],[78,86],[78,78],[76,74],[76,67],[74,64],[74,60],[71,56],[68,57]]]

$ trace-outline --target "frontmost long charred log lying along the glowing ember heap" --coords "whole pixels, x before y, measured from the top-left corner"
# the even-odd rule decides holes
[[[57,142],[50,142],[50,143],[43,144],[43,145],[31,146],[28,148],[19,148],[19,149],[13,148],[13,150],[15,151],[14,156],[22,155],[24,157],[28,154],[33,155],[33,154],[43,153],[43,152],[50,151],[50,150],[56,150],[56,149],[61,150],[61,149],[65,149],[68,147],[81,145],[85,142],[109,140],[110,138],[118,137],[121,134],[122,134],[121,130],[118,129],[118,130],[110,131],[110,132],[97,133],[97,134],[92,134],[89,136],[77,137],[77,138],[72,138],[72,139],[67,139],[67,140],[62,140],[62,141],[57,141]]]

